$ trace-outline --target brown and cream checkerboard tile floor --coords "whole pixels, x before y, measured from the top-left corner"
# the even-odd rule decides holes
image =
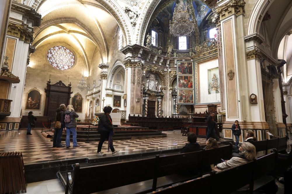
[[[97,152],[98,142],[78,142],[80,147],[53,148],[51,138],[45,138],[41,130],[32,130],[32,135],[26,135],[26,130],[1,131],[0,152],[21,151],[24,162],[44,162],[50,160],[71,159],[78,157],[94,156]],[[77,131],[78,133],[78,131]],[[114,148],[120,152],[131,152],[145,149],[182,146],[187,143],[187,137],[180,131],[164,131],[166,138],[114,140]],[[198,138],[198,143],[205,144],[204,138]],[[62,142],[65,145],[65,142]],[[107,154],[107,141],[102,145],[102,152]]]

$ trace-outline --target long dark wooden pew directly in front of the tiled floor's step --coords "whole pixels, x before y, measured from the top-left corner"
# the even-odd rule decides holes
[[[85,168],[80,168],[77,163],[74,166],[74,177],[67,173],[65,193],[94,193],[108,189],[111,189],[110,193],[155,191],[156,188],[201,176],[201,167],[204,164],[213,164],[220,158],[229,159],[232,145],[225,145],[216,150],[214,156],[213,150],[203,150]],[[184,173],[187,171],[193,173]],[[130,184],[132,185],[129,186]],[[121,186],[123,187],[118,188]]]

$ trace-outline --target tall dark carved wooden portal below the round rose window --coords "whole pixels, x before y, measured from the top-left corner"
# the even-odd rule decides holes
[[[66,86],[62,81],[59,81],[53,85],[48,81],[46,92],[46,105],[44,116],[48,116],[49,119],[55,121],[56,109],[59,108],[60,104],[65,104],[66,106],[70,102],[71,84]]]

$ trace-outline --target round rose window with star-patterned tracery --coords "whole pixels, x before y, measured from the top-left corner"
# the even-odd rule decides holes
[[[64,46],[55,46],[48,50],[48,62],[58,70],[68,70],[75,63],[75,56]]]

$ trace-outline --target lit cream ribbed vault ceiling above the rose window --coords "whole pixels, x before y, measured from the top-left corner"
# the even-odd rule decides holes
[[[37,12],[41,26],[34,28],[33,46],[65,42],[84,56],[88,70],[94,54],[107,63],[109,45],[118,27],[116,19],[97,1],[43,0]]]

